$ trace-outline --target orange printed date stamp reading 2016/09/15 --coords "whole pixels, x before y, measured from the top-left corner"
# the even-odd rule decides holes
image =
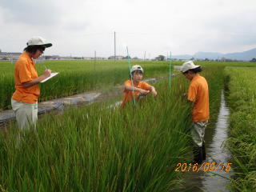
[[[226,172],[229,172],[230,169],[231,169],[231,165],[232,163],[224,163],[224,162],[219,162],[219,163],[216,163],[216,162],[212,162],[212,163],[209,163],[209,162],[203,162],[201,165],[198,165],[198,163],[178,163],[177,164],[177,168],[175,169],[176,172],[179,172],[179,171],[193,171],[193,172],[198,172],[199,170],[202,170],[202,171],[226,171]]]

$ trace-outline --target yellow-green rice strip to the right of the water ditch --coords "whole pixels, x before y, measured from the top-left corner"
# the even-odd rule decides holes
[[[256,189],[256,68],[228,67],[227,98],[230,106],[230,139],[236,178],[234,191]]]

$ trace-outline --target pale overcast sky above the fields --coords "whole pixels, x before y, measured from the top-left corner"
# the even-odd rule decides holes
[[[0,49],[22,52],[33,36],[46,55],[222,54],[256,48],[255,0],[0,0]]]

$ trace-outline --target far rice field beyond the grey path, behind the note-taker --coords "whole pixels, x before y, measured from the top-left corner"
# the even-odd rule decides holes
[[[169,62],[131,62],[145,68],[145,78],[168,76]],[[122,84],[129,78],[127,62],[114,61],[62,61],[36,64],[38,75],[45,66],[60,74],[48,82],[40,84],[39,102],[62,98],[88,90],[103,89]],[[10,98],[14,93],[14,64],[0,62],[0,110],[10,109]]]

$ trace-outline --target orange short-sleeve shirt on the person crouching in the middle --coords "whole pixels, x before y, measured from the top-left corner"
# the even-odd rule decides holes
[[[125,86],[132,86],[131,84],[131,81],[130,80],[127,80],[125,83]],[[134,87],[137,87],[137,88],[140,88],[142,90],[150,90],[150,84],[146,83],[146,82],[139,82],[138,83],[138,86],[135,86]],[[135,98],[138,98],[138,93],[139,91],[138,90],[134,90],[134,97]],[[133,98],[133,91],[132,90],[124,90],[124,95],[123,95],[123,99],[122,99],[122,105],[121,106],[124,106],[126,104],[126,102],[129,102],[130,99]]]

